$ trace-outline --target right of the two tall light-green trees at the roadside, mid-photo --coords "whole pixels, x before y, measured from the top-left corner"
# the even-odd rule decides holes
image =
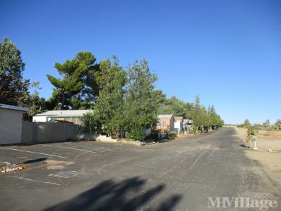
[[[129,65],[129,84],[124,103],[126,136],[134,140],[145,139],[145,129],[157,124],[159,104],[155,98],[157,76],[150,72],[146,60]],[[159,99],[159,98],[158,98]]]

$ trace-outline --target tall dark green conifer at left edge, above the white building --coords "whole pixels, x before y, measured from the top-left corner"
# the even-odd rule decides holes
[[[18,106],[30,80],[22,78],[25,63],[17,46],[8,38],[0,43],[0,103]]]

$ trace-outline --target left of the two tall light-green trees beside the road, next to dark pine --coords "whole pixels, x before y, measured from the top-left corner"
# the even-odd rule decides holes
[[[119,136],[124,129],[124,86],[126,72],[119,65],[117,57],[113,63],[107,59],[100,62],[100,75],[97,77],[100,89],[93,115],[108,135]]]

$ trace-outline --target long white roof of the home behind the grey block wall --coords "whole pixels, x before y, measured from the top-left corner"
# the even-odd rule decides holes
[[[81,117],[93,110],[47,110],[34,116]]]

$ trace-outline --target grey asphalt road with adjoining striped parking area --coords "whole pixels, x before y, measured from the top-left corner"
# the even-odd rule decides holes
[[[0,175],[0,210],[213,210],[209,197],[259,193],[281,206],[280,184],[247,158],[241,143],[235,129],[220,129],[141,147],[94,141],[5,146],[1,161],[29,167]]]

